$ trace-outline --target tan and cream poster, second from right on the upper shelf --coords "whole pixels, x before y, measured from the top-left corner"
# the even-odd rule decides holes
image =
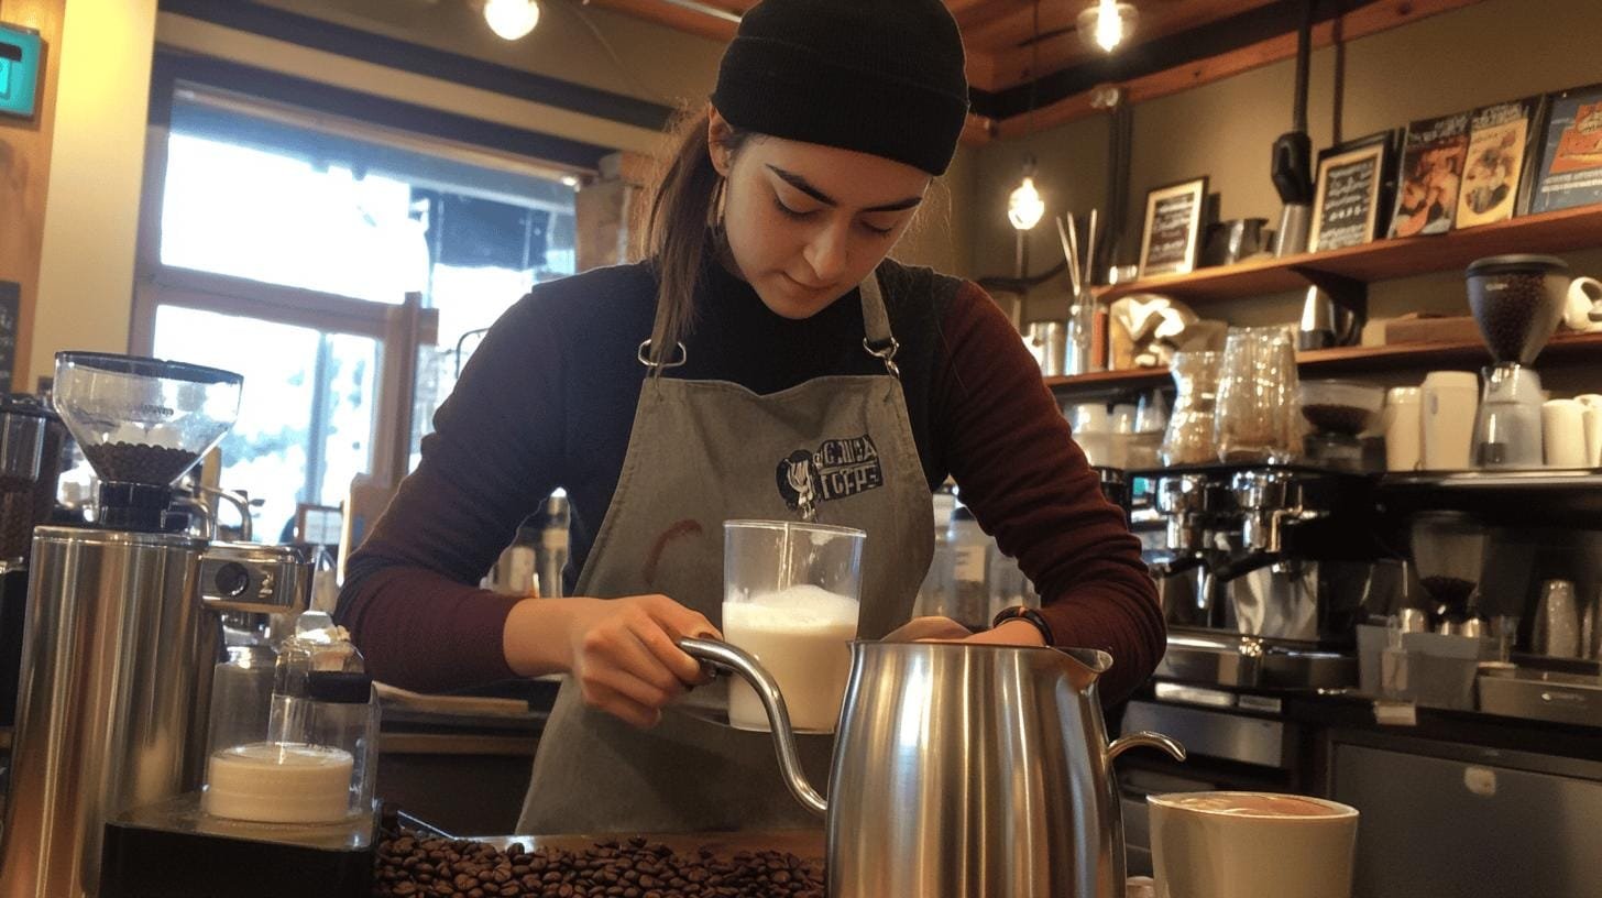
[[[1524,173],[1535,168],[1530,144],[1541,98],[1496,103],[1469,119],[1469,156],[1463,162],[1455,228],[1474,228],[1512,218]]]

